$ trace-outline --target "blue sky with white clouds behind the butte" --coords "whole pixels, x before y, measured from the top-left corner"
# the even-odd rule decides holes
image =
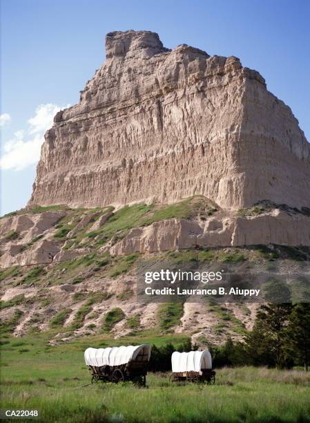
[[[240,57],[310,140],[309,18],[309,0],[1,0],[1,215],[26,205],[43,131],[78,101],[113,30]]]

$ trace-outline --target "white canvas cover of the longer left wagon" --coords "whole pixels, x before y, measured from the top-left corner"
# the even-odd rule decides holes
[[[151,357],[151,345],[120,346],[113,348],[87,348],[84,353],[87,366],[120,366],[131,360],[149,361]]]

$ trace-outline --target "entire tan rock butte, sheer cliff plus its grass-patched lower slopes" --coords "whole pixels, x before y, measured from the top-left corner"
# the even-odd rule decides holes
[[[156,332],[160,304],[135,297],[142,254],[274,265],[291,283],[297,259],[309,277],[310,147],[289,107],[236,57],[112,32],[106,62],[45,138],[28,207],[0,219],[8,332],[53,328],[55,344],[95,335],[110,310],[120,312],[115,337]],[[240,339],[255,317],[248,306],[186,299],[169,330],[199,343]]]

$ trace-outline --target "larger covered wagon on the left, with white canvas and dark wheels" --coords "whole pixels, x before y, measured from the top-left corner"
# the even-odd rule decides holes
[[[145,386],[151,346],[120,346],[113,348],[87,348],[84,353],[86,366],[92,372],[92,383],[125,382]]]

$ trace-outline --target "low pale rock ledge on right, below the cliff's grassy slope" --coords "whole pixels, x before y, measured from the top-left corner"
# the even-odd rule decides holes
[[[310,245],[310,217],[289,216],[275,210],[272,214],[255,217],[211,218],[204,226],[191,220],[163,220],[132,229],[110,248],[110,254],[269,244]]]

